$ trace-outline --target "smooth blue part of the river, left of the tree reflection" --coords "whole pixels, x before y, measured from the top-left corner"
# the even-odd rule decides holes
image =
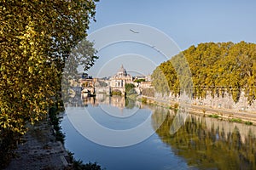
[[[112,99],[117,101],[119,97]],[[108,98],[102,100],[90,98],[87,100],[86,109],[85,107],[66,109],[67,112],[70,112],[63,117],[61,122],[63,132],[66,133],[65,146],[67,150],[74,153],[77,159],[84,162],[97,161],[102,167],[111,170],[189,169],[186,161],[182,157],[176,156],[172,149],[161,142],[161,139],[154,133],[154,128],[158,128],[161,122],[166,120],[166,116],[169,115],[168,110],[160,106],[140,105],[136,102],[127,104],[126,101],[128,108],[130,106],[134,108],[124,108],[123,111],[138,110],[137,114],[119,118],[109,116],[101,109],[102,105],[109,105],[112,114],[116,110],[122,110],[117,105],[113,106],[114,103]],[[84,111],[90,112],[90,116],[95,122],[103,127],[113,129],[113,131],[97,131],[98,128],[94,127],[95,125],[91,126],[88,122],[89,118],[84,118],[84,115],[88,115]],[[153,111],[160,114],[153,115]],[[157,123],[153,122],[152,117]],[[71,124],[78,124],[80,129]],[[117,148],[117,146],[126,147]]]

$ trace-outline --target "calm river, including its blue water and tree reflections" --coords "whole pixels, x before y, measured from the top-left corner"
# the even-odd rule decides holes
[[[67,106],[61,127],[77,160],[107,170],[256,169],[256,127],[119,96]]]

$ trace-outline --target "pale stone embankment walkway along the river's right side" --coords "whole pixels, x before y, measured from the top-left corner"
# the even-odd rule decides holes
[[[167,108],[176,109],[179,105],[175,101],[167,101],[164,99],[155,99],[148,96],[140,96],[138,99],[141,99],[144,103],[150,105],[162,105]],[[241,122],[248,125],[256,125],[256,112],[251,111],[232,111],[224,108],[211,108],[204,105],[189,105],[182,104],[187,106],[187,109],[190,113],[201,115],[201,116],[212,116],[214,118],[230,121],[230,122]]]

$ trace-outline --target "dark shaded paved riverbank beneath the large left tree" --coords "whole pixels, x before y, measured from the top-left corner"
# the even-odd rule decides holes
[[[24,142],[14,150],[15,157],[6,170],[15,169],[65,169],[68,167],[68,153],[63,144],[55,139],[53,127],[48,120],[29,127],[22,137]]]

